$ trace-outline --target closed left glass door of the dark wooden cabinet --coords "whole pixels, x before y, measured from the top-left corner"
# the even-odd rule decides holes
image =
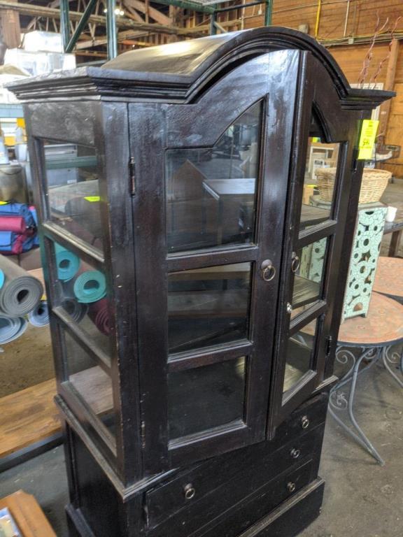
[[[257,57],[192,106],[167,106],[160,116],[166,143],[153,138],[153,162],[143,157],[136,124],[157,129],[157,112],[133,108],[134,159],[147,168],[135,220],[151,222],[154,212],[146,237],[139,226],[135,238],[143,260],[137,292],[147,301],[140,354],[155,360],[141,364],[148,468],[164,458],[166,467],[190,464],[265,438],[289,173],[278,144],[289,154],[293,110],[283,103],[295,102],[298,55]],[[145,238],[159,247],[153,259]],[[164,338],[153,337],[151,324]]]

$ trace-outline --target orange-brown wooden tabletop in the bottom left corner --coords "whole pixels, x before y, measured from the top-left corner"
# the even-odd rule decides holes
[[[56,537],[38,502],[22,490],[0,500],[0,509],[8,508],[22,537]]]

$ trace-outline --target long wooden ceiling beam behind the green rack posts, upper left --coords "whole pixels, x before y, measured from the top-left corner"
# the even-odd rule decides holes
[[[32,15],[33,17],[48,17],[50,19],[60,19],[59,9],[47,8],[44,6],[34,6],[30,3],[18,3],[8,0],[0,0],[0,9],[10,9],[18,11],[22,15]],[[82,16],[83,13],[78,13],[78,11],[69,12],[70,20],[79,21]],[[102,15],[90,15],[89,22],[106,26],[106,17]],[[119,17],[116,20],[116,26],[118,28],[132,28],[136,30],[151,31],[157,34],[178,34],[178,31],[182,30],[182,28],[177,28],[174,26],[165,26],[163,24],[148,24],[147,22],[136,22],[134,20],[129,20],[125,17]]]

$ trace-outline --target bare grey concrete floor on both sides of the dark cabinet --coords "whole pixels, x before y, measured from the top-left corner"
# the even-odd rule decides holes
[[[356,408],[386,466],[379,466],[329,417],[320,468],[327,482],[323,512],[301,537],[402,537],[402,389],[375,366],[360,378]],[[1,496],[17,489],[34,494],[57,536],[68,536],[62,447],[0,475]]]

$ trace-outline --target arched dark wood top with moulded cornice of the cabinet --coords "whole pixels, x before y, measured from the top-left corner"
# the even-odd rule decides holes
[[[330,52],[315,39],[282,27],[261,27],[132,50],[102,67],[80,67],[11,83],[19,99],[73,96],[194,102],[200,93],[247,59],[271,50],[303,50],[330,76],[342,108],[368,110],[391,92],[353,89]]]

